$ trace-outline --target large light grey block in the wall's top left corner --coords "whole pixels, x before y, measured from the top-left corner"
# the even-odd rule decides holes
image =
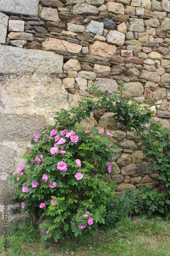
[[[39,0],[1,0],[0,12],[37,17],[38,5]]]

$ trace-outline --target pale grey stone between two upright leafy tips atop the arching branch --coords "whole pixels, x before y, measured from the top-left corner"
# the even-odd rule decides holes
[[[117,92],[118,90],[117,82],[113,79],[98,78],[95,81],[95,84],[97,87],[99,87],[99,90],[101,90],[101,92],[108,92],[109,94],[112,94],[113,91]]]

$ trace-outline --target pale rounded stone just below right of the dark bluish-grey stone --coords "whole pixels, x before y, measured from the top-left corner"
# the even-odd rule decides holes
[[[111,30],[109,34],[106,36],[106,39],[110,44],[123,46],[125,43],[125,34],[118,32],[116,30]]]

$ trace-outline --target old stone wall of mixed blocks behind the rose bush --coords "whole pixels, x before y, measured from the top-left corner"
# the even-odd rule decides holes
[[[169,12],[168,0],[1,0],[0,212],[4,200],[15,212],[7,179],[30,140],[54,123],[55,111],[88,96],[92,82],[112,94],[125,81],[124,94],[143,104],[152,98],[153,118],[169,127]],[[94,113],[86,125],[103,127],[119,145],[117,194],[143,184],[162,191],[140,142],[111,116]]]

